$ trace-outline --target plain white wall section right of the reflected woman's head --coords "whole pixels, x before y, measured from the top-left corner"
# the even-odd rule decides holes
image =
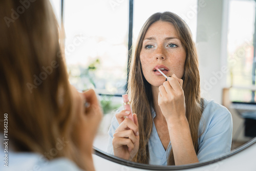
[[[227,71],[227,0],[198,1],[196,46],[202,96],[221,103]]]

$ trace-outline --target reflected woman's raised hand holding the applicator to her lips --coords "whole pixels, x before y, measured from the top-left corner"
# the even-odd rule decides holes
[[[185,97],[182,89],[183,80],[175,74],[159,87],[158,105],[168,122],[170,119],[185,117]]]

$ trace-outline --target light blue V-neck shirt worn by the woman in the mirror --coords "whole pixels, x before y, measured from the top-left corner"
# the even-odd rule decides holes
[[[152,117],[153,130],[148,141],[150,164],[167,165],[167,158],[172,145],[169,142],[165,151],[155,127],[154,118],[156,113],[153,108]],[[109,129],[107,150],[112,155],[114,155],[112,145],[113,134],[118,126],[119,123],[116,117],[113,117]],[[201,135],[198,139],[199,151],[197,157],[199,162],[216,159],[229,153],[232,142],[232,129],[233,123],[230,112],[214,100],[204,99],[204,111],[199,124],[199,135]]]

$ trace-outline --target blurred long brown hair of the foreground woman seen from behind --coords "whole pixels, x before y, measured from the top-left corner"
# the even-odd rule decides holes
[[[86,169],[72,137],[73,95],[48,0],[0,1],[0,114],[16,152],[53,153]],[[4,122],[1,122],[4,133]],[[75,134],[75,133],[73,133]],[[67,144],[65,144],[67,143]]]

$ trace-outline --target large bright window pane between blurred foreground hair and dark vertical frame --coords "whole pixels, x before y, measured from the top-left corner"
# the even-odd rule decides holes
[[[125,92],[129,4],[113,2],[65,1],[66,62],[79,90]]]

